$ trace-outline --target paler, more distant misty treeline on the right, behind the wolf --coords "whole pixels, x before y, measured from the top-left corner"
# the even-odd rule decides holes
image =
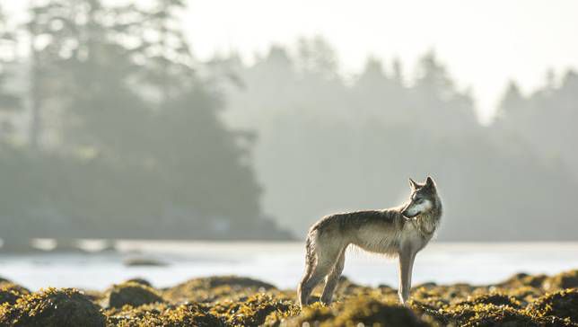
[[[272,47],[252,66],[234,55],[214,65],[244,81],[227,93],[225,118],[258,132],[264,206],[298,235],[334,210],[397,205],[407,177],[432,174],[445,199],[441,240],[575,240],[572,71],[550,75],[529,96],[512,84],[486,127],[433,52],[415,76],[403,75],[398,60],[370,58],[344,78],[320,38]]]

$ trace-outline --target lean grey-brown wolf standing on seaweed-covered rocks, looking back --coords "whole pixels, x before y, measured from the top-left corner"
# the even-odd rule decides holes
[[[409,186],[409,199],[399,207],[329,215],[311,226],[305,273],[297,290],[300,305],[308,305],[311,291],[323,278],[320,302],[331,302],[350,245],[398,257],[398,296],[407,304],[416,253],[432,239],[442,217],[442,200],[431,177],[424,183],[409,179]]]

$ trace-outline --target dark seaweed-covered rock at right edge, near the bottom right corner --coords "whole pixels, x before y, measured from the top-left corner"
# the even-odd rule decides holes
[[[528,306],[530,314],[556,316],[578,323],[578,289],[565,289],[547,294]]]

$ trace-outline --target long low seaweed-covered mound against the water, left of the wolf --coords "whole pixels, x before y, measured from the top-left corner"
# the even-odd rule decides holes
[[[220,298],[230,299],[231,296],[247,297],[271,289],[276,289],[276,287],[257,279],[217,276],[190,279],[176,287],[166,289],[163,296],[177,302],[211,302]]]

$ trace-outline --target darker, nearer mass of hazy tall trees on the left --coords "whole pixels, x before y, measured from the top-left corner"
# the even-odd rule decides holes
[[[181,0],[0,15],[0,238],[281,238]],[[24,49],[24,50],[22,50]],[[4,245],[6,245],[4,244]]]

